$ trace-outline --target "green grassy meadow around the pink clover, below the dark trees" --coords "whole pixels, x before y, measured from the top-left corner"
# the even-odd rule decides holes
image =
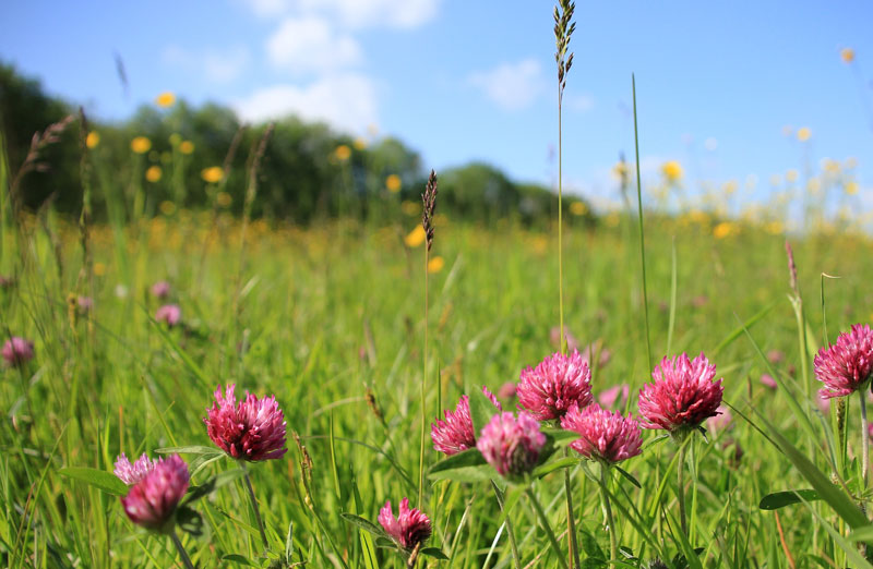
[[[340,513],[375,522],[387,499],[395,508],[405,496],[417,504],[424,330],[428,429],[461,395],[482,385],[497,391],[557,350],[550,338],[559,318],[554,231],[440,221],[432,255],[444,266],[429,276],[427,322],[423,247],[404,242],[415,217],[380,228],[253,222],[242,244],[238,221],[178,211],[123,233],[89,228],[89,261],[80,230],[50,213],[7,231],[2,268],[16,280],[0,293],[2,325],[8,336],[33,339],[36,356],[2,370],[0,565],[177,566],[171,543],[130,523],[117,497],[61,471],[111,472],[122,451],[155,457],[158,448],[211,446],[203,417],[213,391],[235,383],[240,392],[275,395],[287,421],[287,455],[249,468],[271,552],[262,557],[242,481],[228,477],[195,503],[203,535],[182,536],[193,561],[400,567],[390,549],[367,554],[372,540]],[[581,346],[600,341],[611,353],[594,368],[595,394],[629,384],[626,408],[636,414],[636,394],[655,362],[646,354],[635,220],[617,221],[565,231],[565,324]],[[871,242],[846,234],[792,238],[809,323],[801,353],[785,235],[738,225],[717,239],[711,226],[654,217],[647,223],[651,359],[704,351],[723,377],[726,401],[761,424],[753,407],[827,476],[858,488],[851,462],[860,453],[858,402],[850,403],[848,449],[841,450],[834,417],[822,415],[809,396],[820,386],[812,354],[824,341],[821,274],[841,277],[824,282],[833,341],[850,324],[871,319]],[[170,282],[182,325],[153,319],[158,301],[148,289],[158,280]],[[77,307],[76,295],[93,298],[93,307]],[[754,342],[741,322],[750,323]],[[779,388],[761,383],[768,370],[756,346],[784,354],[770,372],[784,382]],[[651,443],[656,433],[644,432],[643,455],[622,464],[641,487],[620,475],[611,481],[623,562],[858,567],[847,560],[854,546],[841,547],[827,533],[848,530],[825,503],[758,508],[767,494],[811,484],[764,433],[734,412],[727,427],[695,438],[685,543],[675,526],[675,446]],[[428,437],[426,469],[441,458]],[[214,461],[192,485],[237,468]],[[579,465],[569,472],[584,565],[603,566],[609,538],[597,485]],[[533,488],[566,552],[562,479],[547,474]],[[513,566],[488,483],[427,481],[423,496],[421,509],[433,522],[428,545],[449,557],[429,558],[429,566]],[[558,566],[530,503],[512,487],[505,497],[523,564]],[[699,548],[699,560],[689,547]]]

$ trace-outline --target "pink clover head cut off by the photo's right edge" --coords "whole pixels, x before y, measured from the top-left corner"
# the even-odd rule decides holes
[[[854,324],[837,342],[818,350],[813,360],[815,378],[825,384],[822,398],[845,397],[866,389],[873,376],[873,330]]]

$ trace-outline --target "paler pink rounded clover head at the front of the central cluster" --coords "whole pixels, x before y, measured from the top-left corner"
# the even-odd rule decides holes
[[[482,428],[476,448],[501,476],[519,477],[530,472],[546,445],[539,423],[521,411],[518,417],[509,412],[498,413]]]

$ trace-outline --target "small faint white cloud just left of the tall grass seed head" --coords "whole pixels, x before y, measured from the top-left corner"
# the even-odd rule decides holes
[[[510,111],[529,107],[545,89],[542,69],[537,60],[529,58],[473,73],[469,82],[500,108]]]

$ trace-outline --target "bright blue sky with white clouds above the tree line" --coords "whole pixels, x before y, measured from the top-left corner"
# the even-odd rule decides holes
[[[104,119],[171,90],[260,120],[298,112],[400,137],[426,167],[479,159],[551,183],[557,144],[551,2],[214,0],[4,2],[0,59]],[[741,186],[804,157],[856,157],[873,190],[873,8],[866,2],[581,2],[564,112],[564,179],[617,198],[633,153],[636,74],[643,171],[679,160],[685,185]],[[856,50],[847,65],[840,49]],[[130,81],[125,97],[113,53]],[[794,132],[806,126],[801,145]],[[787,128],[789,128],[787,130]]]

